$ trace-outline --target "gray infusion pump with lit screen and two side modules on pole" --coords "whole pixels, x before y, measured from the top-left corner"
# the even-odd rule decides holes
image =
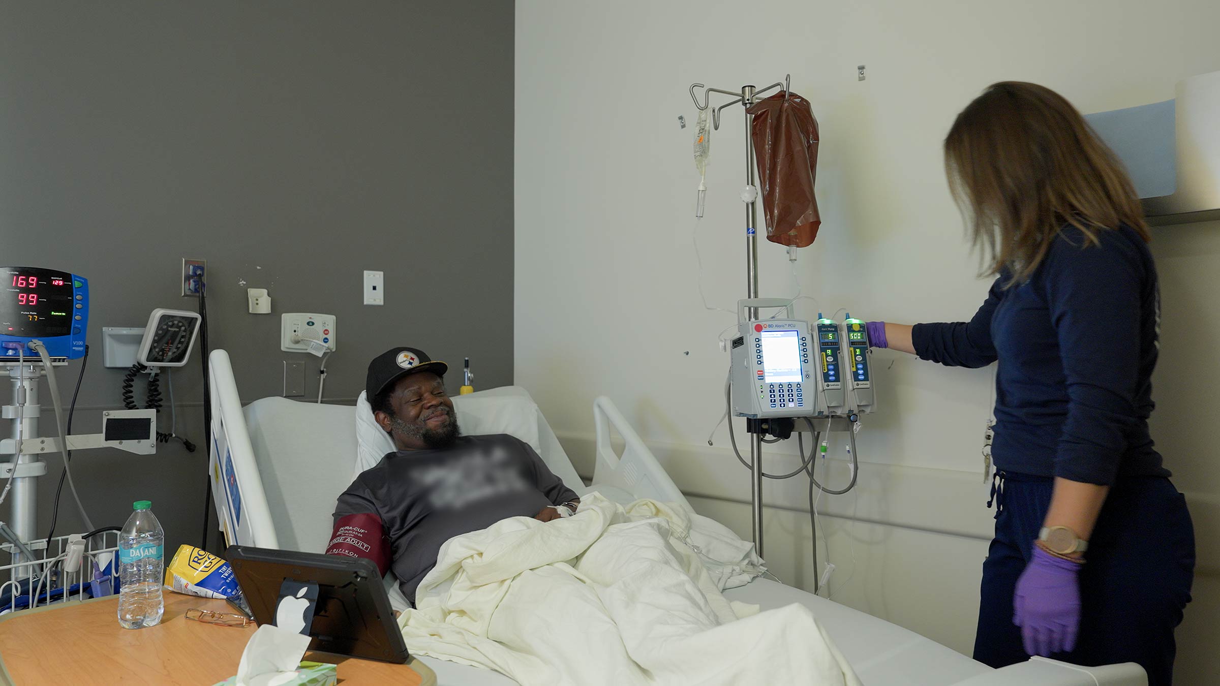
[[[747,319],[748,309],[780,309],[780,319]],[[756,298],[738,301],[732,341],[732,404],[736,416],[814,417],[871,413],[872,378],[864,322],[819,319],[817,326],[793,317],[792,301]]]

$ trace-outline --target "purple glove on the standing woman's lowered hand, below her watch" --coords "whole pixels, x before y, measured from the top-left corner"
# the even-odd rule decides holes
[[[1021,627],[1025,652],[1050,657],[1076,647],[1080,626],[1080,563],[1033,548],[1033,559],[1016,580],[1013,624]]]

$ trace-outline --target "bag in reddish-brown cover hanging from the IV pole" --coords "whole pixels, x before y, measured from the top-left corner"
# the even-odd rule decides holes
[[[747,111],[754,116],[752,134],[766,238],[805,248],[817,238],[822,223],[814,197],[817,120],[808,100],[782,90]]]

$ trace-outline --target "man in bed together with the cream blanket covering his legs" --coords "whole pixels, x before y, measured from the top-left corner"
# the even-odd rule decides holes
[[[327,549],[394,570],[412,653],[522,686],[859,686],[803,605],[723,597],[764,569],[748,543],[684,504],[581,502],[527,443],[460,436],[447,369],[410,348],[370,365],[398,449],[339,496]]]

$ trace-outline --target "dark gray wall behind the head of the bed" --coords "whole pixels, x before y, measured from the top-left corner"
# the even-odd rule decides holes
[[[244,400],[281,392],[284,359],[305,360],[317,393],[317,359],[279,352],[285,311],[338,317],[329,402],[354,400],[396,344],[510,383],[512,32],[503,0],[0,0],[0,264],[90,280],[76,432],[121,403],[101,327],[196,308],[179,297],[184,256],[207,260],[211,344]],[[386,306],[361,304],[366,269],[386,272]],[[246,312],[248,287],[271,292],[271,315]],[[59,372],[65,403],[78,370]],[[196,354],[174,395],[200,446],[201,388]],[[78,453],[73,474],[99,526],[154,500],[168,548],[200,538],[205,464],[172,444]],[[79,526],[65,496],[59,531]]]

